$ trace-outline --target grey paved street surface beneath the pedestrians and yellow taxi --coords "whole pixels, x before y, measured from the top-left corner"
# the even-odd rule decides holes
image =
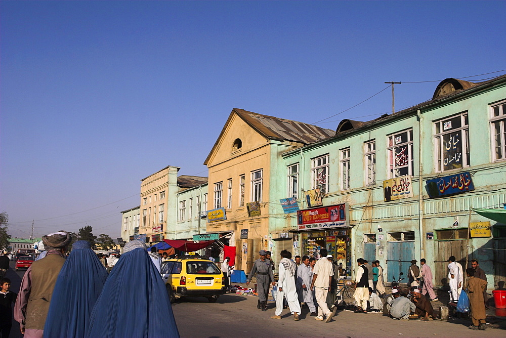
[[[14,263],[11,263],[14,267]],[[12,290],[18,292],[25,271],[10,269],[7,277],[12,280]],[[173,304],[173,311],[182,337],[309,337],[309,336],[454,336],[492,337],[505,336],[506,326],[473,331],[467,328],[469,321],[452,319],[452,322],[434,320],[397,321],[381,314],[356,314],[341,311],[330,323],[314,320],[308,309],[303,309],[301,320],[284,310],[281,320],[271,319],[275,303],[268,302],[268,311],[257,309],[256,297],[224,294],[218,302],[208,303],[204,298],[187,298]],[[494,318],[491,318],[491,322]],[[501,325],[506,325],[504,321]],[[22,337],[19,324],[13,322],[11,338]]]

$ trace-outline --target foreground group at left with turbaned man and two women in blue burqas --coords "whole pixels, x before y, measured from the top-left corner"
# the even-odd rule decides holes
[[[43,236],[46,255],[28,268],[18,294],[0,269],[2,337],[11,330],[12,303],[25,338],[179,337],[161,260],[143,242],[130,241],[121,256],[99,257],[80,240],[66,256],[71,240],[63,230]]]

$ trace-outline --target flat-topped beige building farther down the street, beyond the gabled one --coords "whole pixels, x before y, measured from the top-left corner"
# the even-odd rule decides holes
[[[141,180],[140,224],[136,235],[146,243],[176,238],[178,192],[207,182],[207,177],[181,175],[168,165]]]

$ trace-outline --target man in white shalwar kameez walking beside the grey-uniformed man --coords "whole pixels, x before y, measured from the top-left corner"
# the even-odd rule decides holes
[[[286,298],[290,312],[293,313],[293,319],[299,320],[301,314],[301,303],[297,294],[295,278],[297,274],[297,264],[290,260],[291,253],[288,250],[281,251],[281,262],[278,268],[278,292],[276,295],[276,312],[273,319],[281,319],[283,312],[283,298]]]

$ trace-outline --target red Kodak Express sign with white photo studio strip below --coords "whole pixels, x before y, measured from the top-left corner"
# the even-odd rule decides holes
[[[299,230],[327,229],[348,226],[346,203],[314,209],[299,210],[297,224]]]

